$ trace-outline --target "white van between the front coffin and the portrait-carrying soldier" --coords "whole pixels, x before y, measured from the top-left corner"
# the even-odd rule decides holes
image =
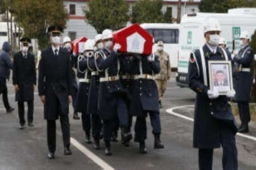
[[[171,68],[174,70],[177,69],[180,25],[168,23],[143,23],[140,26],[154,37],[155,45],[153,46],[153,52],[156,51],[157,42],[160,40],[164,42],[164,51],[171,57]]]

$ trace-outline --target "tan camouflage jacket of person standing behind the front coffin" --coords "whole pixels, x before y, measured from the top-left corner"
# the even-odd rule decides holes
[[[170,57],[167,52],[155,52],[155,55],[159,56],[160,72],[155,75],[156,80],[168,80],[171,77],[171,64]]]

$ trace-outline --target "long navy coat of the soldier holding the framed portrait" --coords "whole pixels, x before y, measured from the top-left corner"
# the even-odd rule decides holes
[[[225,60],[225,57],[220,47],[217,47],[216,54],[213,54],[207,45],[204,45],[203,50],[205,55],[207,84],[209,84],[208,61]],[[193,54],[190,56],[190,64],[188,67],[189,87],[197,93],[195,101],[193,147],[213,149],[220,147],[221,144],[219,123],[226,123],[226,125],[236,133],[236,122],[226,96],[209,99],[207,95],[209,86],[204,84],[200,51],[195,50]]]

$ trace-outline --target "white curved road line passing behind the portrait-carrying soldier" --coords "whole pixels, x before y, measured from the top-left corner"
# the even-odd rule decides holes
[[[190,120],[192,122],[194,122],[193,118],[190,118],[188,116],[184,116],[184,115],[181,115],[179,113],[175,113],[173,110],[176,110],[176,109],[180,109],[180,108],[187,108],[187,107],[194,107],[194,105],[185,105],[185,106],[177,106],[177,107],[174,107],[174,108],[169,108],[168,110],[166,110],[166,112],[170,115],[174,115],[174,116],[177,116],[179,118],[183,118],[185,120]],[[246,139],[250,139],[250,140],[253,140],[253,141],[256,141],[256,137],[253,137],[253,136],[250,136],[250,135],[245,135],[243,133],[236,133],[236,135],[240,136],[240,137],[244,137]]]

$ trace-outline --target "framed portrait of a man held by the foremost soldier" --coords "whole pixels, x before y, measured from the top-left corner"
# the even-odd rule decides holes
[[[220,95],[226,95],[233,90],[233,76],[231,61],[211,60],[209,64],[209,83],[211,91],[219,91]]]

